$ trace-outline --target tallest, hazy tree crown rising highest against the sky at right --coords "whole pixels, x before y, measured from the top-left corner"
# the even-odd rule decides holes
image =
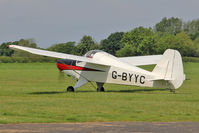
[[[155,32],[164,32],[169,34],[177,34],[182,31],[183,22],[179,18],[163,18],[155,25]]]

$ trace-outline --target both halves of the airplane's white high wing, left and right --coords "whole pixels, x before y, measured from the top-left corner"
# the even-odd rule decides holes
[[[9,45],[9,48],[20,49],[20,50],[30,52],[32,54],[37,54],[37,55],[42,55],[42,56],[61,58],[61,59],[71,59],[71,60],[83,61],[83,62],[98,64],[98,65],[111,66],[111,63],[105,63],[93,58],[87,58],[83,56],[70,55],[70,54],[52,52],[52,51],[47,51],[47,50],[35,49],[35,48],[28,48],[28,47],[23,47],[23,46],[18,46],[18,45]],[[149,56],[121,57],[118,59],[122,62],[128,63],[133,66],[141,66],[141,65],[157,64],[157,62],[160,60],[161,57],[162,55],[149,55]]]

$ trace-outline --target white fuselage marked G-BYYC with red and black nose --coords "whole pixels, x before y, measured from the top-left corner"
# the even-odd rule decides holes
[[[77,79],[83,76],[88,81],[161,88],[166,86],[165,83],[149,80],[156,76],[152,72],[124,63],[106,52],[93,50],[84,56],[99,62],[111,63],[111,66],[61,59],[57,61],[57,67],[67,75]]]

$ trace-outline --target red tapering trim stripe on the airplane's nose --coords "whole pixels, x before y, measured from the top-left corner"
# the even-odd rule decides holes
[[[100,70],[96,70],[96,69],[72,66],[72,65],[65,65],[65,64],[60,64],[60,63],[57,63],[57,68],[59,68],[60,71],[62,71],[62,70],[100,71]]]

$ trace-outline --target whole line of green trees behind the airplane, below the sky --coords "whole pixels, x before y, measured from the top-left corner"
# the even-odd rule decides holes
[[[34,39],[6,42],[0,45],[0,56],[40,57],[7,49],[8,44],[39,48]],[[199,57],[199,19],[184,22],[174,17],[163,18],[152,28],[136,27],[128,32],[115,32],[99,43],[85,35],[79,43],[71,41],[54,44],[47,50],[84,55],[89,50],[100,49],[121,57],[162,54],[168,48],[178,50],[182,56]]]

